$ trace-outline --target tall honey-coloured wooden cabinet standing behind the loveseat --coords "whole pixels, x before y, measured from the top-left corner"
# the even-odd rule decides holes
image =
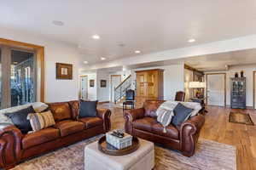
[[[163,70],[136,71],[137,96],[163,99]]]

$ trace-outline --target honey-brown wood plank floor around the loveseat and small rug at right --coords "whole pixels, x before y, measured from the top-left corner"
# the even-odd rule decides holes
[[[112,111],[112,128],[123,128],[125,119],[120,108],[110,104],[101,107]],[[229,122],[230,111],[250,114],[256,125],[256,111],[231,110],[229,108],[208,106],[206,122],[201,129],[201,139],[210,139],[219,143],[236,146],[236,165],[238,170],[256,170],[256,126]]]

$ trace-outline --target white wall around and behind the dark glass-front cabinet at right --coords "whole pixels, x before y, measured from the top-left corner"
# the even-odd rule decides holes
[[[253,106],[253,71],[256,71],[256,65],[236,65],[231,66],[229,71],[218,71],[226,73],[227,105],[230,105],[230,78],[235,77],[236,72],[240,77],[240,71],[244,71],[244,77],[247,77],[247,106],[251,107]]]

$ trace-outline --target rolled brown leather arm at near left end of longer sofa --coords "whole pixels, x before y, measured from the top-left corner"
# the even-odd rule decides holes
[[[15,167],[21,156],[20,129],[10,123],[0,123],[0,167]]]

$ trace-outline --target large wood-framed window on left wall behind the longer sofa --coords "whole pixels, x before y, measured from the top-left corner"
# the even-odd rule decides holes
[[[44,102],[43,81],[44,47],[0,38],[1,109]]]

